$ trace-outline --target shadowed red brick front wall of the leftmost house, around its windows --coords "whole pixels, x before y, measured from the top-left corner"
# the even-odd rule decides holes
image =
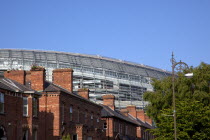
[[[28,99],[28,116],[23,116],[23,98],[27,94],[13,93],[0,89],[4,93],[5,114],[0,114],[0,126],[4,126],[7,139],[22,139],[23,130],[29,130],[29,140],[32,140],[32,130],[38,128],[38,118],[33,118],[31,97]]]

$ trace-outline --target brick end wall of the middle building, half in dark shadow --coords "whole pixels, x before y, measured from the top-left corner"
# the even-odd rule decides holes
[[[39,99],[40,140],[54,140],[60,136],[60,99],[59,94],[42,94]]]

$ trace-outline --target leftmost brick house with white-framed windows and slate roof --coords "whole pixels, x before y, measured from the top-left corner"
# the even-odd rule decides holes
[[[13,71],[16,75],[19,72]],[[20,73],[24,73],[20,71]],[[40,93],[16,81],[0,80],[0,139],[32,140],[39,133]]]

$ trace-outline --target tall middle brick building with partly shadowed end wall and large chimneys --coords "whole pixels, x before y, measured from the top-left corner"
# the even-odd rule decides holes
[[[58,140],[69,134],[72,140],[100,140],[103,136],[102,107],[89,101],[88,89],[72,92],[72,73],[71,69],[54,70],[53,82],[45,80],[41,67],[5,73],[5,77],[41,93],[37,139]]]

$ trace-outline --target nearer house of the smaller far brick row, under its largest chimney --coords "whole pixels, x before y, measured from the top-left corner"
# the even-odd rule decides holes
[[[103,96],[102,119],[107,140],[135,140],[138,124],[128,117],[128,112],[115,110],[114,95]]]

